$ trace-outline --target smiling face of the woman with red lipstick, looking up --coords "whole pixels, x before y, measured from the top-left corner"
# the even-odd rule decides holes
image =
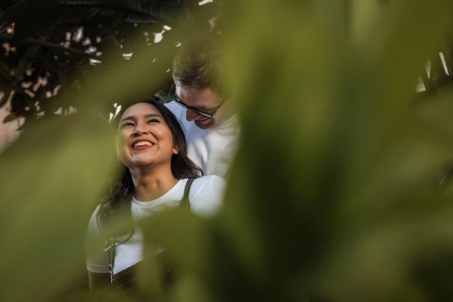
[[[170,128],[156,106],[134,104],[123,112],[118,126],[116,153],[129,169],[171,164],[179,147],[173,144]]]

